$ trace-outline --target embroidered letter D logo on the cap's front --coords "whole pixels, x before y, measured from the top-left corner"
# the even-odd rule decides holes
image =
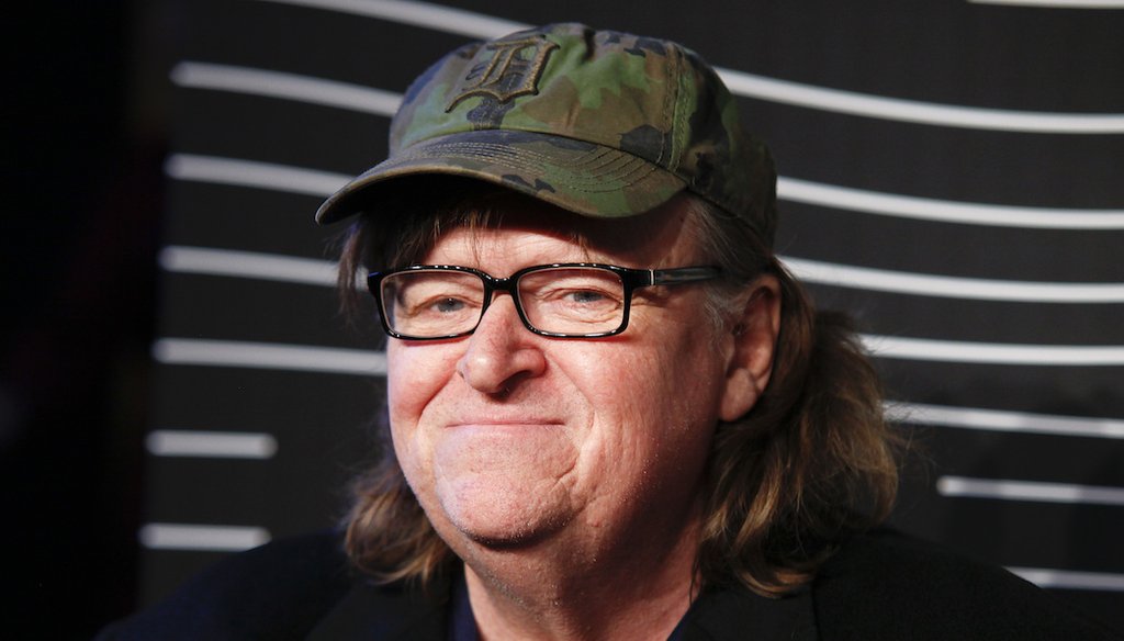
[[[518,40],[489,43],[481,53],[490,53],[479,60],[461,79],[453,101],[445,111],[452,111],[456,103],[471,96],[490,96],[499,102],[507,102],[519,96],[538,92],[538,76],[546,65],[546,57],[559,46],[543,36]]]

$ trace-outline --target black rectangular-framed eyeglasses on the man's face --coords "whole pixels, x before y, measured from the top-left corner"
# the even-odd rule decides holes
[[[496,291],[511,295],[524,326],[535,334],[598,338],[625,331],[635,289],[709,280],[719,271],[555,263],[496,278],[465,267],[411,265],[371,273],[366,286],[379,304],[383,329],[396,338],[435,341],[471,334]]]

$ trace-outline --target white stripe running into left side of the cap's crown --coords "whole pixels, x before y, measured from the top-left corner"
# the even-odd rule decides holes
[[[402,100],[400,93],[369,87],[228,64],[181,62],[172,67],[171,76],[180,87],[268,96],[387,117],[395,115]]]

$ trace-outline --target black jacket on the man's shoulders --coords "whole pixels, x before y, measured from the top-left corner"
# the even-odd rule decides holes
[[[445,641],[451,589],[372,585],[338,535],[319,534],[230,557],[98,639]],[[852,539],[791,597],[705,592],[681,629],[683,641],[1118,639],[1000,568],[888,531]]]

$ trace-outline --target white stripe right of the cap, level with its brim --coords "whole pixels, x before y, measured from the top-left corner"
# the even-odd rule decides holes
[[[1039,229],[1124,229],[1124,209],[1059,209],[958,202],[864,191],[780,177],[777,197],[831,209],[847,209],[941,223]]]

